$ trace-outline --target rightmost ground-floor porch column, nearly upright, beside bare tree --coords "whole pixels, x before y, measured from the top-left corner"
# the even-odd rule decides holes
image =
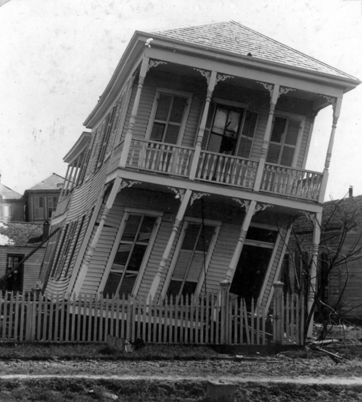
[[[319,248],[319,241],[320,241],[320,229],[321,229],[321,222],[322,222],[322,213],[319,212],[315,215],[314,218],[314,230],[313,230],[313,250],[312,250],[312,262],[310,267],[310,283],[308,289],[308,314],[312,310],[314,296],[316,294],[316,282],[317,282],[317,266],[318,266],[318,248]],[[307,338],[312,338],[313,332],[313,317],[309,323]]]

